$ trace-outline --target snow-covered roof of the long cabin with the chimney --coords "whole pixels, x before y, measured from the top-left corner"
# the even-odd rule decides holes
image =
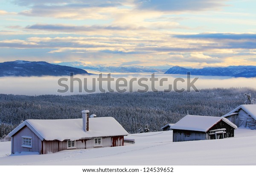
[[[84,132],[82,119],[26,120],[9,136],[28,126],[41,140],[79,140],[95,137],[122,136],[129,133],[113,117],[89,118],[89,131]]]

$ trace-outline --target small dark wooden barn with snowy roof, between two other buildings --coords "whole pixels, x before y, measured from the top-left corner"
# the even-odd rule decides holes
[[[172,126],[173,142],[234,137],[234,129],[226,118],[186,115]]]

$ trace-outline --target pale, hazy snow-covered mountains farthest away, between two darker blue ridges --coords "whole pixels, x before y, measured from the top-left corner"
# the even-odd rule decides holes
[[[92,70],[92,71],[99,71],[99,72],[112,72],[112,73],[155,73],[155,72],[165,72],[168,70],[166,69],[158,69],[155,67],[146,67],[146,66],[109,66],[106,67],[104,65],[90,65],[83,62],[61,62],[61,63],[54,63],[55,65],[65,65],[70,67],[77,67],[84,70]]]

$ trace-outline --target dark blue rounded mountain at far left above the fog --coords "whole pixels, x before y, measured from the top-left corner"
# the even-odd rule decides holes
[[[53,65],[47,62],[29,62],[17,60],[0,63],[0,77],[3,76],[69,76],[88,74],[87,71],[68,66]]]

